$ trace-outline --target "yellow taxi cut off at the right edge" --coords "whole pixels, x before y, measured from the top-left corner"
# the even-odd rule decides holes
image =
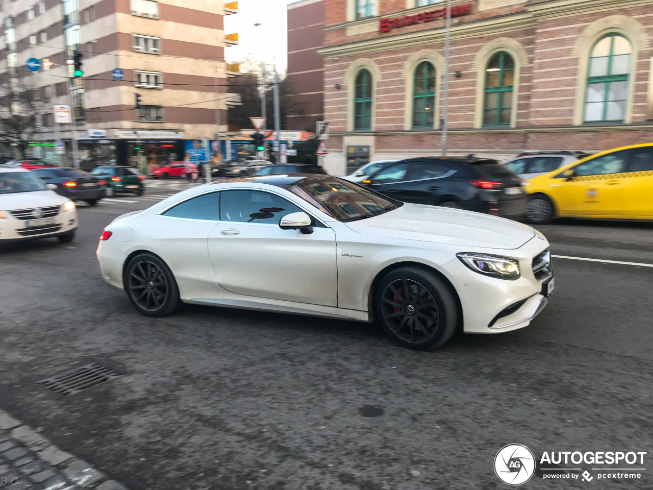
[[[653,143],[590,155],[522,185],[531,223],[562,216],[653,220]]]

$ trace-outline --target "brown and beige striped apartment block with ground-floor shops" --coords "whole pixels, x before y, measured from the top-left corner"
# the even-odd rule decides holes
[[[223,16],[236,13],[237,2],[5,0],[2,7],[0,75],[18,90],[43,90],[52,105],[35,139],[63,139],[64,163],[72,129],[81,159],[150,165],[181,159],[188,142],[226,130],[224,54],[237,35],[225,35]],[[74,56],[84,73],[71,82]],[[29,71],[31,58],[44,69]],[[55,104],[71,104],[76,125],[55,125]]]

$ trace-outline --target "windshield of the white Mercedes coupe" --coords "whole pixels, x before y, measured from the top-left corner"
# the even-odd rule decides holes
[[[288,189],[338,221],[363,220],[403,204],[339,178],[315,176]]]

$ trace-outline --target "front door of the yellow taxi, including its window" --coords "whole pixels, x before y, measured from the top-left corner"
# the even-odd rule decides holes
[[[572,167],[558,189],[561,216],[619,216],[624,214],[624,172],[629,150],[592,158]]]

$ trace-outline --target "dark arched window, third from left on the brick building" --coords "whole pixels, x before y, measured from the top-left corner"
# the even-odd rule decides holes
[[[506,52],[498,52],[485,69],[483,125],[510,124],[513,106],[515,61]]]

